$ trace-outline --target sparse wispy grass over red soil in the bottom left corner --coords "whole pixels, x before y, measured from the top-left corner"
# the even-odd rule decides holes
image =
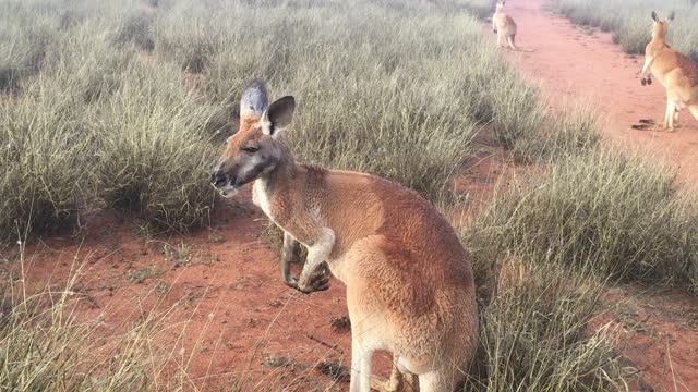
[[[24,247],[15,262],[24,267]],[[3,260],[3,262],[7,260]],[[3,281],[0,385],[8,391],[137,391],[149,384],[155,313],[128,332],[103,339],[101,320],[82,320],[74,291],[83,265],[67,281],[29,291],[26,275]],[[24,268],[21,269],[24,271]],[[3,271],[7,272],[7,271]],[[103,342],[104,343],[104,342]],[[160,366],[160,365],[158,365]]]

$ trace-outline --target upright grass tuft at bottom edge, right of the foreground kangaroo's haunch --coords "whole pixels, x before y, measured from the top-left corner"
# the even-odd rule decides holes
[[[530,259],[529,259],[530,260]],[[601,286],[561,266],[503,266],[480,305],[477,363],[464,391],[625,391],[627,370],[607,326],[590,329]]]

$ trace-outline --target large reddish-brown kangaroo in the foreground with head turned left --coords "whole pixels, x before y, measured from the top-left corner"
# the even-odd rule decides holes
[[[284,250],[296,242],[306,247],[298,279],[282,269],[286,284],[303,293],[325,290],[327,279],[316,270],[326,261],[346,285],[350,391],[370,391],[376,350],[392,352],[399,373],[417,375],[422,391],[453,391],[473,357],[479,328],[462,245],[414,191],[297,163],[282,132],[294,110],[290,96],[267,106],[264,84],[253,82],[212,182],[230,196],[254,181],[253,201],[284,231]]]

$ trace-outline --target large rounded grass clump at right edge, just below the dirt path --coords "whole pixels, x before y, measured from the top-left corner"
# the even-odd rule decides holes
[[[698,206],[666,173],[610,151],[553,162],[498,195],[468,244],[481,260],[531,259],[698,293]]]

